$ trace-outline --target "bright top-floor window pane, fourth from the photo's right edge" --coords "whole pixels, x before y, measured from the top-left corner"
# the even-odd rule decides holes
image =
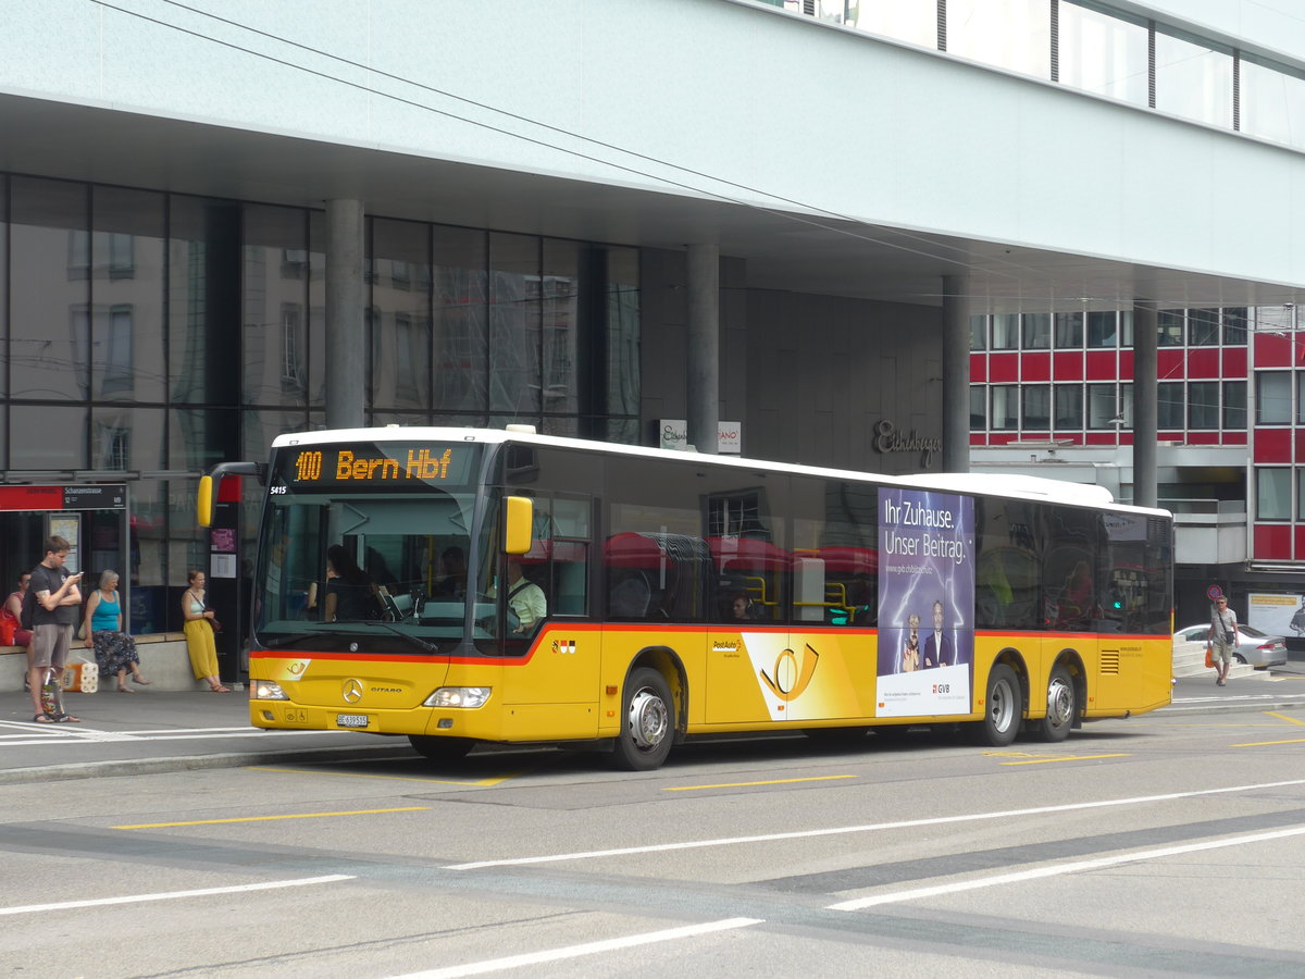
[[[1047,0],[947,0],[947,54],[1051,78],[1051,4]]]

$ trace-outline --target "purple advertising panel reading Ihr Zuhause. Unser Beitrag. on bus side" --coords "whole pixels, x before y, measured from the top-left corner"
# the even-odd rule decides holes
[[[974,500],[883,487],[880,510],[878,717],[970,713]]]

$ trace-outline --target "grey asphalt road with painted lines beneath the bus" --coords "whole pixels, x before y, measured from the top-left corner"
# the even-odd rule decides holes
[[[1221,702],[1060,745],[733,739],[655,773],[158,739],[223,766],[0,783],[0,950],[37,975],[1280,979],[1305,972],[1305,683],[1251,683],[1283,693],[1193,684]]]

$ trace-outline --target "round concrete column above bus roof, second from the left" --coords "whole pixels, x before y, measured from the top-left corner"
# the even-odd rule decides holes
[[[720,420],[720,247],[689,245],[685,420],[689,444],[716,454]]]

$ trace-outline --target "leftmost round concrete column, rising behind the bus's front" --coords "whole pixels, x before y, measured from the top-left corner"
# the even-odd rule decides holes
[[[326,427],[367,422],[363,204],[326,202]]]

